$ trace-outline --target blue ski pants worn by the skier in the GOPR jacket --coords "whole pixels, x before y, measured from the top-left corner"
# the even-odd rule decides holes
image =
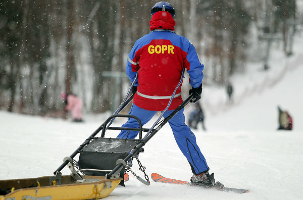
[[[168,117],[172,112],[173,111],[166,111],[163,115],[164,118]],[[186,157],[191,166],[192,172],[194,174],[199,174],[201,172],[209,170],[209,167],[203,154],[200,152],[194,134],[185,124],[185,116],[183,112],[184,108],[180,110],[172,119],[170,119],[168,123],[173,131],[175,140],[181,152]],[[129,111],[130,115],[134,115],[140,119],[142,126],[146,124],[151,118],[153,118],[156,113],[157,111],[148,111],[141,109],[134,104]],[[139,128],[139,123],[134,118],[128,118],[128,121],[123,124],[122,127]],[[134,139],[137,134],[138,131],[122,130],[117,138]]]

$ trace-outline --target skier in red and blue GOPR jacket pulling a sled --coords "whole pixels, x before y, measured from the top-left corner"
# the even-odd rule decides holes
[[[194,95],[193,103],[197,102],[202,92],[204,65],[200,64],[194,46],[183,36],[174,32],[174,8],[167,2],[159,2],[151,9],[151,32],[138,39],[127,58],[126,74],[134,82],[133,105],[129,112],[146,124],[158,111],[164,111],[170,98],[180,82],[183,68],[187,70]],[[136,74],[138,72],[138,78]],[[182,84],[181,84],[182,85]],[[181,85],[176,89],[170,107],[164,112],[166,118],[182,102]],[[201,154],[196,138],[185,124],[184,109],[180,110],[168,123],[176,142],[188,160],[193,175],[192,182],[214,185],[213,174],[209,174],[207,162]],[[138,128],[138,122],[129,118],[122,127]],[[133,139],[138,131],[121,131],[118,138]]]

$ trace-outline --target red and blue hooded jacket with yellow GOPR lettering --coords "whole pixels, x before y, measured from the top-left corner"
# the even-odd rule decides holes
[[[138,72],[133,103],[145,110],[163,111],[181,79],[183,68],[189,73],[189,83],[199,87],[204,65],[200,64],[188,39],[173,32],[175,21],[171,14],[156,12],[149,24],[151,32],[138,39],[131,49],[126,73],[133,81]],[[168,110],[176,109],[183,102],[181,85]]]

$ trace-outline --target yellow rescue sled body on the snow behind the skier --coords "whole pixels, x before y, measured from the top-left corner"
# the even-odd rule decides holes
[[[120,183],[121,178],[106,179],[105,176],[82,176],[76,180],[72,175],[43,176],[38,178],[0,180],[0,188],[6,195],[1,200],[65,200],[98,199],[108,196]]]

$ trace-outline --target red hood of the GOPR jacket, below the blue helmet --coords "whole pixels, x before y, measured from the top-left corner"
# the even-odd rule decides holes
[[[174,26],[176,25],[173,16],[166,11],[156,12],[151,18],[150,22],[150,30],[154,29],[169,29],[175,30]]]

